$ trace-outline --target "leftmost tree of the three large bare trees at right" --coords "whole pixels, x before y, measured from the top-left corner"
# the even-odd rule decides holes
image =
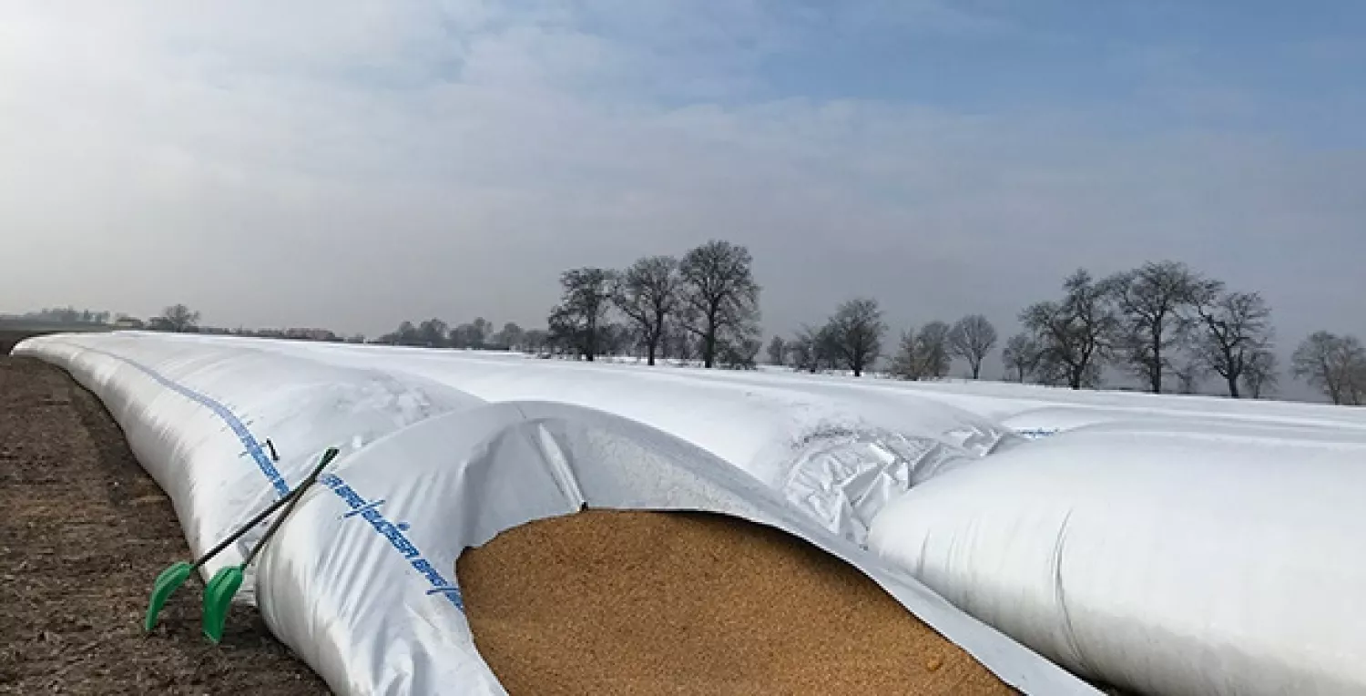
[[[1045,375],[1074,390],[1096,384],[1109,357],[1119,320],[1109,301],[1111,286],[1078,269],[1063,283],[1060,302],[1038,302],[1020,313],[1020,323],[1040,345]]]

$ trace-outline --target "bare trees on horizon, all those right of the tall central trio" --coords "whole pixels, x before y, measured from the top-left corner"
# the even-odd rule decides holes
[[[1019,382],[1097,387],[1109,366],[1142,380],[1153,392],[1168,390],[1172,382],[1180,391],[1194,392],[1208,375],[1217,375],[1235,398],[1244,392],[1259,397],[1276,383],[1270,308],[1262,297],[1231,290],[1176,261],[1146,263],[1101,279],[1079,269],[1063,282],[1061,298],[1027,306],[1019,320],[1023,331],[1001,350],[1008,377]],[[813,372],[847,369],[859,376],[882,356],[885,332],[877,301],[856,298],[840,305],[818,328],[803,327],[791,339],[775,338],[769,361]],[[930,321],[902,332],[888,372],[903,379],[943,377],[953,360],[962,358],[978,379],[997,342],[996,328],[981,314],[952,325]],[[1343,399],[1361,384],[1366,398],[1366,351],[1359,342],[1328,335],[1314,347],[1317,362],[1306,357],[1296,358],[1296,365],[1318,366],[1296,366],[1296,373],[1330,386]]]

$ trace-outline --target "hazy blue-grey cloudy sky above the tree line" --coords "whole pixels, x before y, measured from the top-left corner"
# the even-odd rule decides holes
[[[1078,265],[1366,331],[1366,3],[8,1],[0,310],[544,321],[747,245],[765,328],[1015,330]]]

